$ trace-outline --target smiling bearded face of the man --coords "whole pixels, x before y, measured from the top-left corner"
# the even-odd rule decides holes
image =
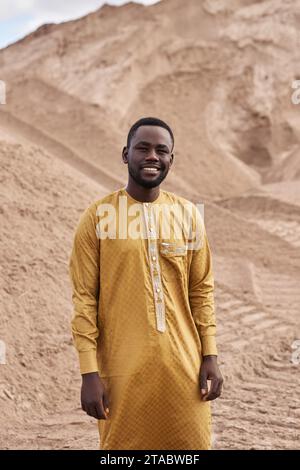
[[[154,188],[165,179],[173,162],[172,138],[163,127],[140,126],[130,147],[123,150],[131,178],[144,188]]]

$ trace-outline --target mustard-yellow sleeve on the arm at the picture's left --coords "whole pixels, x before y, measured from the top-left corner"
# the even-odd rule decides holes
[[[82,374],[98,371],[99,240],[94,217],[92,208],[83,213],[69,262],[74,306],[72,335]]]

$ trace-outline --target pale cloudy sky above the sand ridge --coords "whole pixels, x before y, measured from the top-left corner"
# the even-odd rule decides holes
[[[135,0],[151,5],[158,0]],[[100,8],[104,3],[123,5],[128,0],[0,0],[0,49],[44,23],[61,23]]]

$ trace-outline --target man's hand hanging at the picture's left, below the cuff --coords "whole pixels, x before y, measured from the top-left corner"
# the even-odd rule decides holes
[[[107,419],[108,396],[98,372],[82,374],[81,407],[89,416]]]

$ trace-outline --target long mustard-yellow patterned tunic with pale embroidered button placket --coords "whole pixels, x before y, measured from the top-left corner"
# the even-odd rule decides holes
[[[208,449],[210,404],[201,401],[199,371],[202,356],[217,349],[204,224],[199,249],[186,249],[186,233],[163,238],[155,205],[188,201],[161,190],[156,201],[140,203],[145,238],[100,239],[99,206],[115,207],[120,229],[120,196],[129,209],[137,203],[123,188],[92,204],[70,258],[80,370],[98,371],[109,394],[109,418],[98,421],[100,448]],[[132,222],[130,210],[126,217]]]

